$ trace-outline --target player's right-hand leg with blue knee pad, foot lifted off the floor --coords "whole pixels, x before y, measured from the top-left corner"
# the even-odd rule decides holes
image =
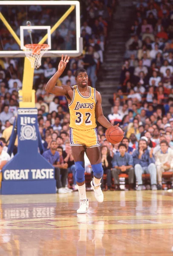
[[[101,191],[101,178],[103,176],[103,167],[101,163],[101,149],[99,147],[86,148],[86,155],[91,163],[94,179],[91,186],[94,188],[95,198],[98,202],[103,202],[104,195]]]

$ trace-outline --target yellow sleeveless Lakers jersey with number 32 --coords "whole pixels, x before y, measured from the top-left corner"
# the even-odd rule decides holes
[[[89,96],[84,97],[78,90],[78,86],[73,86],[73,99],[69,104],[70,127],[77,130],[89,130],[96,127],[95,123],[95,88],[89,87]]]

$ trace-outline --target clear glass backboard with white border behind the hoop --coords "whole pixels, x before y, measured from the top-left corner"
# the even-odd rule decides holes
[[[80,34],[78,1],[0,1],[0,57],[25,57],[31,43],[49,44],[44,57],[79,56]]]

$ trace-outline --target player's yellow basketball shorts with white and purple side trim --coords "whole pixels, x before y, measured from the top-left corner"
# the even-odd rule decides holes
[[[97,128],[81,131],[70,128],[70,146],[82,146],[86,148],[99,147]]]

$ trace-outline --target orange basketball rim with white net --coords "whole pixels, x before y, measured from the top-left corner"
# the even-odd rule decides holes
[[[48,44],[26,44],[24,46],[26,58],[31,62],[32,68],[37,69],[41,66],[41,58],[48,49]]]

